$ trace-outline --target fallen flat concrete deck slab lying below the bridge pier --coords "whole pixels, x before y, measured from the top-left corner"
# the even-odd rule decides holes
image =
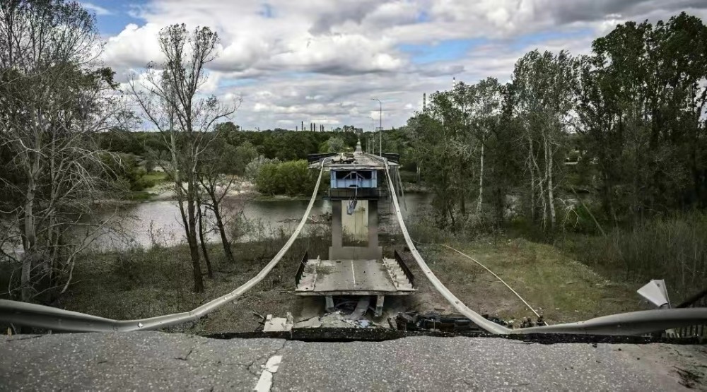
[[[310,259],[296,295],[409,295],[416,292],[394,259]]]

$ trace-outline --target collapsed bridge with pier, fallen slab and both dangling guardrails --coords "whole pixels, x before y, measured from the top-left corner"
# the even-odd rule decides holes
[[[587,321],[511,329],[489,321],[469,309],[440,282],[417,251],[402,218],[396,189],[400,188],[397,159],[393,154],[371,155],[361,151],[360,143],[352,155],[324,154],[310,156],[312,169],[319,175],[307,209],[288,241],[269,263],[247,283],[226,295],[211,300],[192,311],[154,316],[147,319],[113,320],[90,314],[57,309],[38,304],[0,299],[0,320],[23,326],[57,331],[107,332],[147,331],[195,321],[237,299],[263,280],[302,231],[319,194],[322,177],[329,172],[332,200],[332,246],[327,259],[309,259],[305,255],[296,275],[296,295],[319,295],[327,302],[334,295],[375,296],[376,312],[382,309],[385,295],[414,295],[414,277],[402,259],[384,259],[378,246],[377,207],[380,198],[390,197],[395,216],[413,258],[436,291],[460,314],[492,334],[570,333],[587,335],[642,335],[670,328],[707,323],[707,308],[656,309],[601,316]],[[381,186],[385,180],[386,186]],[[398,183],[398,186],[395,183]],[[389,190],[385,193],[385,188]],[[346,208],[344,210],[344,207]],[[357,212],[358,211],[358,212]],[[363,212],[361,212],[363,211]],[[344,215],[344,212],[346,213]],[[346,217],[346,218],[345,218]],[[356,220],[360,218],[360,224]],[[365,217],[365,222],[364,222]],[[353,220],[353,222],[351,222]],[[344,227],[354,237],[354,244],[344,246]],[[362,230],[366,227],[366,230]],[[359,242],[356,244],[356,238]],[[363,241],[365,239],[365,241]],[[347,265],[348,263],[348,265]],[[365,278],[364,278],[365,276]],[[327,304],[329,305],[329,304]],[[366,307],[367,308],[367,307]]]

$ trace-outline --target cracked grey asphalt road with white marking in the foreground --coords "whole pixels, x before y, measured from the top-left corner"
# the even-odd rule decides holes
[[[0,339],[0,390],[674,391],[690,383],[706,388],[706,364],[707,348],[696,345],[542,345],[461,337],[305,343],[160,332],[16,335]]]

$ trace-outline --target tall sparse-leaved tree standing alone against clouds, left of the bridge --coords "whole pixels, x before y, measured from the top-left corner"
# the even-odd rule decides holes
[[[209,28],[189,32],[184,24],[160,30],[160,49],[165,61],[148,64],[144,81],[130,83],[132,95],[146,119],[162,133],[170,154],[170,174],[189,244],[194,273],[194,291],[203,292],[197,242],[198,167],[201,155],[216,136],[211,133],[219,119],[235,112],[215,96],[202,97],[206,64],[216,59],[218,35]]]

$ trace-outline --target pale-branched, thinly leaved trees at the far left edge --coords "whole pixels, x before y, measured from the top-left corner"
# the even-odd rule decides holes
[[[85,217],[112,190],[105,162],[118,158],[95,136],[119,125],[122,106],[112,71],[95,66],[100,47],[93,16],[76,2],[0,2],[0,193],[9,222],[0,245],[20,242],[23,252],[0,251],[21,266],[23,301],[66,291],[77,256],[105,225]]]

